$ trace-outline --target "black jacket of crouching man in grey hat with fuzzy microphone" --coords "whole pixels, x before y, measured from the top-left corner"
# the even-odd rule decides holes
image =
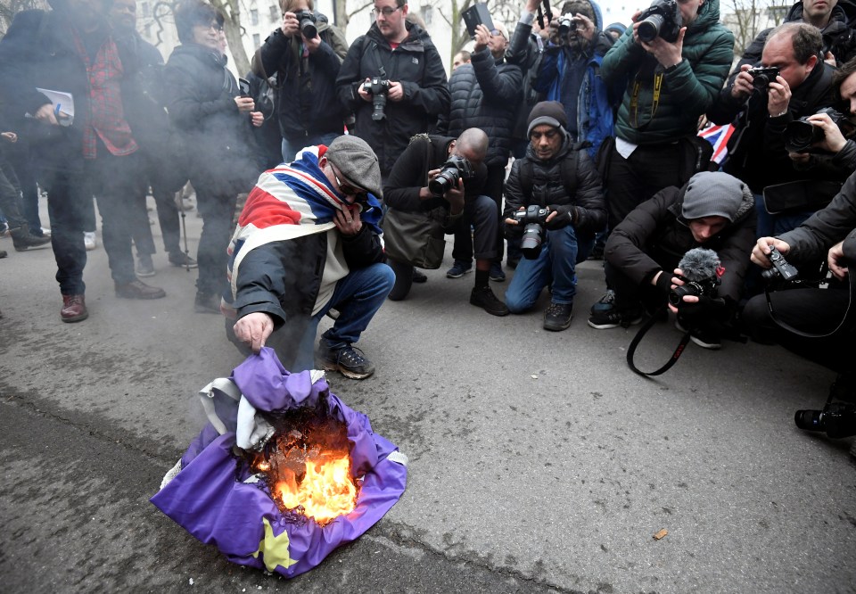
[[[660,270],[671,272],[685,253],[704,247],[720,257],[725,273],[719,296],[732,304],[740,301],[749,254],[755,243],[752,192],[745,187],[734,220],[704,243],[695,241],[681,214],[687,185],[667,187],[642,202],[621,221],[606,241],[604,259],[637,285],[649,283]]]

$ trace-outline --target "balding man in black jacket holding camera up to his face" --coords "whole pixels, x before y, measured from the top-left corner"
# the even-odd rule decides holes
[[[820,60],[821,45],[816,27],[804,23],[779,26],[770,33],[761,57],[761,64],[778,68],[778,76],[758,74],[756,79],[745,64],[708,111],[714,123],[735,124],[723,169],[743,179],[755,194],[759,236],[772,235],[776,224],[764,209],[761,194],[766,186],[827,179],[823,169],[794,167],[786,148],[789,123],[834,103],[835,69]],[[839,177],[843,180],[845,176]]]

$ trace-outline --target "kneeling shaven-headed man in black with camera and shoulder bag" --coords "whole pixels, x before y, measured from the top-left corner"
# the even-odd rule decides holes
[[[383,222],[383,238],[387,259],[395,271],[392,301],[402,300],[410,293],[414,266],[440,267],[443,233],[454,233],[465,219],[474,227],[475,286],[470,303],[493,316],[508,314],[505,303],[488,285],[490,262],[497,257],[499,229],[496,203],[481,194],[487,180],[483,162],[487,151],[488,136],[479,128],[467,128],[457,139],[414,136],[395,161],[383,186],[389,209]],[[405,220],[396,211],[422,213],[424,217]],[[465,213],[466,217],[462,217]],[[435,233],[440,237],[427,236]]]

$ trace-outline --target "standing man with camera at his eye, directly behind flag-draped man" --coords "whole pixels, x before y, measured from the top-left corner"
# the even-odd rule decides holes
[[[283,23],[265,39],[252,68],[260,78],[276,75],[283,161],[290,162],[304,146],[330,144],[342,134],[336,77],[348,42],[325,17],[317,17],[313,0],[280,0],[280,7]]]

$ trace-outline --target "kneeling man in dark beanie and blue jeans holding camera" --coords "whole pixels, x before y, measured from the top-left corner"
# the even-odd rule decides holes
[[[522,313],[551,286],[544,329],[557,332],[571,325],[576,266],[605,225],[604,191],[588,153],[571,142],[562,103],[535,105],[528,126],[530,146],[506,182],[506,235],[523,235],[506,305]]]

